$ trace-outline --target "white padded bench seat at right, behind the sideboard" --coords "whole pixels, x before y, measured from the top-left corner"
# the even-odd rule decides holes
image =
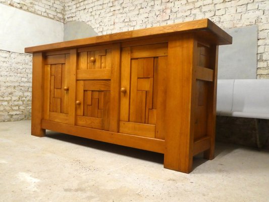
[[[269,119],[269,79],[218,80],[217,115]]]

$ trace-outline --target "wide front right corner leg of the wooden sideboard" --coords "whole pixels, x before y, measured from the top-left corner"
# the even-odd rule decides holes
[[[164,167],[190,173],[193,161],[195,66],[194,35],[182,34],[168,42],[166,149]],[[190,68],[191,67],[191,68]]]

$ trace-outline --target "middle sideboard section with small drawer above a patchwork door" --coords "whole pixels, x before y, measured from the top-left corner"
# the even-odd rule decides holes
[[[112,46],[80,48],[76,125],[109,130]]]

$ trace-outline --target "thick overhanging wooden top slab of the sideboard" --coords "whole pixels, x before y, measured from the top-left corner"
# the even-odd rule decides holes
[[[210,42],[217,45],[225,45],[232,43],[232,36],[230,36],[228,33],[226,33],[223,29],[218,27],[209,19],[202,19],[172,25],[164,25],[58,43],[26,47],[25,53],[58,51],[66,48],[107,44],[111,42],[122,42],[127,40],[146,39],[149,37],[151,38],[152,36],[165,36],[180,32],[196,32],[198,37],[210,40]]]

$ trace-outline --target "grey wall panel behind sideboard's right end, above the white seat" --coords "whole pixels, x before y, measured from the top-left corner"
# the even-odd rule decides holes
[[[219,49],[219,79],[256,79],[258,27],[225,30],[233,44]]]

